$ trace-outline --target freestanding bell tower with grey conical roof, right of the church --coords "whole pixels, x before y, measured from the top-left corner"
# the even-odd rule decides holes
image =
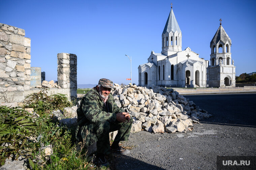
[[[210,87],[235,87],[235,66],[231,58],[231,39],[221,25],[211,43],[210,63],[207,67],[207,84]]]

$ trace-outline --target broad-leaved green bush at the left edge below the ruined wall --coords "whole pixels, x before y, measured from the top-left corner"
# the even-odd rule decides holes
[[[0,161],[1,165],[10,155],[31,154],[36,146],[27,140],[37,134],[39,123],[36,117],[16,107],[0,106]]]

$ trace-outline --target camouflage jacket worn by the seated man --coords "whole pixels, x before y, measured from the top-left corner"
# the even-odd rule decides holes
[[[111,93],[108,96],[106,105],[107,107],[96,90],[96,87],[82,98],[80,106],[77,109],[75,136],[77,141],[83,141],[85,139],[85,147],[92,145],[98,140],[93,130],[93,123],[102,120],[115,122],[117,118],[116,113],[124,112],[123,109],[117,106]]]

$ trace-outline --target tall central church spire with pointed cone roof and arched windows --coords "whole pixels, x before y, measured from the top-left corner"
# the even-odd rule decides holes
[[[163,54],[169,56],[179,51],[182,51],[182,33],[180,26],[175,18],[172,10],[166,21],[163,33],[162,33],[162,52]]]

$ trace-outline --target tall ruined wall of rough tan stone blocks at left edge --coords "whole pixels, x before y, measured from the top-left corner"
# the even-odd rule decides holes
[[[0,102],[20,102],[30,89],[31,40],[24,36],[25,30],[0,23]]]

